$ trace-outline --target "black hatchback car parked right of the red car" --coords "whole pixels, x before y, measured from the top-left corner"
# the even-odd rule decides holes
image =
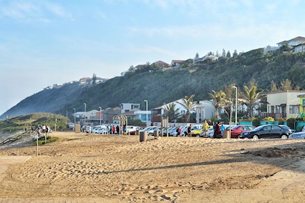
[[[281,138],[287,139],[291,134],[291,130],[287,125],[260,125],[254,130],[243,132],[240,138]]]

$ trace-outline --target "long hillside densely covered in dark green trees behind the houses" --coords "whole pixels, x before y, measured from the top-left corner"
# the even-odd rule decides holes
[[[189,60],[191,61],[191,60]],[[268,91],[271,81],[277,85],[288,78],[293,85],[305,89],[305,53],[272,53],[263,55],[262,48],[239,54],[234,58],[208,60],[203,64],[185,62],[182,67],[166,70],[146,65],[129,71],[125,76],[104,83],[82,87],[78,83],[59,89],[46,89],[29,96],[8,109],[0,118],[33,112],[51,112],[71,116],[76,111],[116,107],[120,103],[140,103],[148,100],[149,109],[163,103],[195,94],[195,100],[209,99],[208,92],[223,89],[233,82],[242,87],[255,79]],[[71,117],[70,117],[71,118]]]

